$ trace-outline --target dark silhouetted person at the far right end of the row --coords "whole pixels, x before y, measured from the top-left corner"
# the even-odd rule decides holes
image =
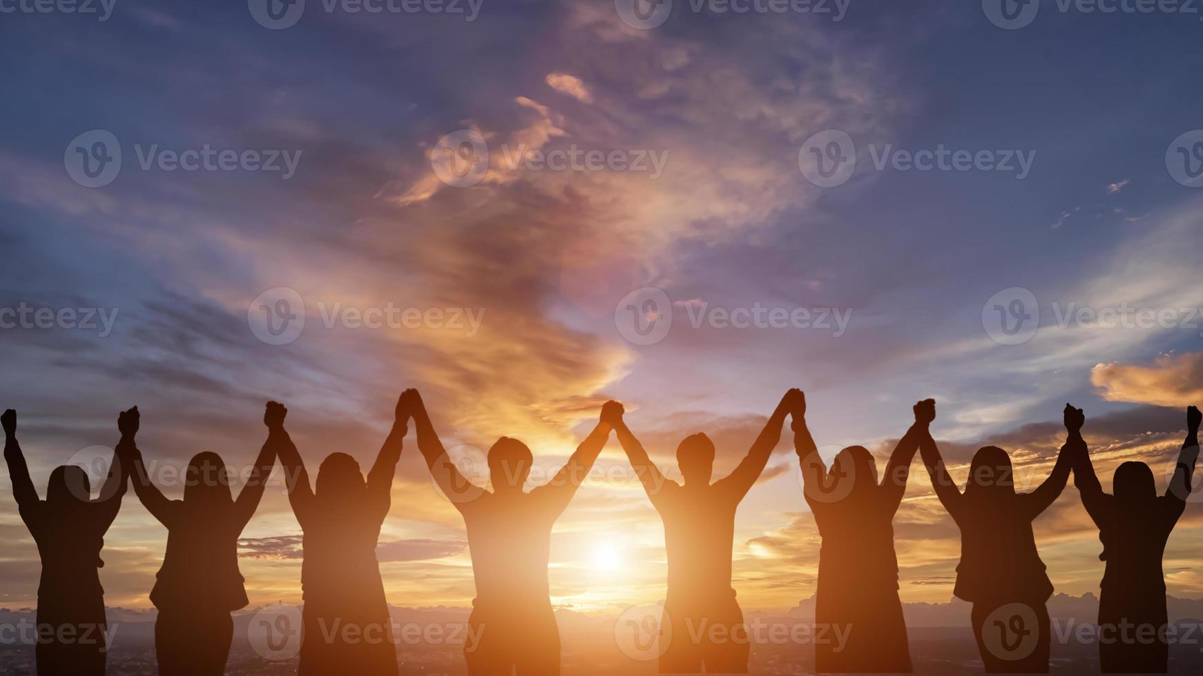
[[[1081,438],[1081,409],[1074,409],[1069,443],[1074,445],[1073,483],[1098,526],[1107,562],[1098,599],[1098,662],[1103,674],[1165,674],[1169,644],[1166,626],[1166,578],[1161,558],[1166,542],[1186,509],[1198,460],[1199,409],[1186,409],[1186,441],[1174,477],[1158,497],[1152,471],[1144,462],[1115,469],[1114,495],[1103,492]],[[1069,417],[1066,417],[1067,424]]]

